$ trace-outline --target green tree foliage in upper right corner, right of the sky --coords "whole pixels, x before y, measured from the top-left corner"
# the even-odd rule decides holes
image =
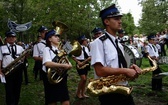
[[[167,24],[167,0],[141,0],[142,19],[140,30],[143,33],[161,32],[168,27]]]

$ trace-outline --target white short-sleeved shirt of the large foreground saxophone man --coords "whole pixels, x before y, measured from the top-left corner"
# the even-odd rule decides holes
[[[115,42],[116,38],[112,35],[109,36]],[[123,53],[123,46],[120,43],[118,43],[118,46],[120,47]],[[92,66],[96,63],[101,63],[103,66],[106,67],[119,68],[117,50],[108,38],[104,41],[101,41],[99,38],[95,39],[94,42],[92,42],[91,44],[90,53]],[[98,76],[95,76],[95,78],[96,77],[98,78]],[[123,81],[118,84],[126,85],[127,83],[127,81]]]

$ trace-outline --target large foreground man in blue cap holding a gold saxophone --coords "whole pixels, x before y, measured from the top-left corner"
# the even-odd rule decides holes
[[[123,74],[136,78],[141,69],[133,64],[127,68],[123,46],[118,42],[116,33],[121,29],[122,15],[115,4],[100,11],[100,17],[105,27],[105,34],[93,41],[91,46],[91,65],[98,77]],[[128,81],[120,81],[118,85],[127,86]],[[101,105],[134,105],[131,95],[108,93],[99,96]]]

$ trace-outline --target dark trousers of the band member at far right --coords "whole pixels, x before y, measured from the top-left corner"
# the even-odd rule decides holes
[[[153,66],[152,62],[150,61],[150,65]],[[162,78],[155,78],[155,75],[161,73],[160,67],[152,72],[152,90],[162,90]]]

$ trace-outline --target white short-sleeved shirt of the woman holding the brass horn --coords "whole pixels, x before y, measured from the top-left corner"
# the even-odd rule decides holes
[[[52,46],[53,51],[57,50],[59,53],[58,49],[54,46]],[[46,62],[52,62],[52,59],[56,56],[56,54],[53,52],[49,47],[45,47],[43,49],[43,71],[46,72],[46,66],[44,65]]]

